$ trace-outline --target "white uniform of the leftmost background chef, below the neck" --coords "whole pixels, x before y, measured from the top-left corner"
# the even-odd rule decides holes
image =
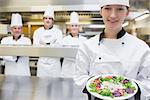
[[[13,36],[5,37],[1,40],[1,44],[10,45],[31,45],[31,40],[23,35],[16,41]],[[5,61],[5,75],[23,75],[30,76],[29,57],[19,56],[3,56]]]

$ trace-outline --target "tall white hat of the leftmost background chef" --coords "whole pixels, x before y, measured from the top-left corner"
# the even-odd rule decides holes
[[[20,14],[12,14],[11,16],[11,27],[13,26],[22,26],[22,17]]]

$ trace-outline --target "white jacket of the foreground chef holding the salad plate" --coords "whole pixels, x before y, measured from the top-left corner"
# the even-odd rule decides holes
[[[142,91],[141,100],[147,100],[144,97],[150,96],[150,86],[146,85],[150,84],[148,45],[128,33],[119,39],[102,38],[98,44],[99,35],[96,35],[80,45],[76,57],[76,84],[84,87],[94,75],[123,75],[138,82]]]

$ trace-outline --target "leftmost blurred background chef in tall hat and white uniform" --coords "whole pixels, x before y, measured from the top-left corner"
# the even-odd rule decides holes
[[[31,45],[31,40],[22,34],[23,25],[20,14],[12,14],[10,26],[12,36],[4,37],[1,44]],[[3,59],[5,61],[5,75],[30,76],[29,57],[3,56]]]

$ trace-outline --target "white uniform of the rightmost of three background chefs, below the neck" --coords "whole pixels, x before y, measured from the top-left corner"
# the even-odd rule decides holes
[[[71,35],[68,35],[63,38],[63,40],[61,41],[61,45],[72,48],[76,47],[78,48],[78,46],[85,40],[87,39],[83,36],[72,37]],[[62,76],[65,78],[73,78],[74,70],[75,70],[75,58],[64,58],[61,71]]]

